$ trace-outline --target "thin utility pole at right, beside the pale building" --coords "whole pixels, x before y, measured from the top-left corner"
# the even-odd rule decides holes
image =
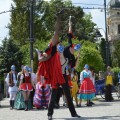
[[[107,33],[106,0],[104,0],[104,12],[105,12],[106,66],[109,66],[109,42]]]

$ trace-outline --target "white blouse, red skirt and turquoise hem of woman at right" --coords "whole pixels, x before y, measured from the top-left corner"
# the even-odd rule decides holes
[[[95,97],[95,88],[92,83],[91,72],[83,70],[80,74],[81,86],[78,99],[91,100]]]

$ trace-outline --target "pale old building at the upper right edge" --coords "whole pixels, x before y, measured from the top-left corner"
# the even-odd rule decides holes
[[[120,0],[108,4],[108,40],[120,40]]]

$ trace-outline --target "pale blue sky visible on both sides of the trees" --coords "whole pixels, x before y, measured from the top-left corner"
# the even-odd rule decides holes
[[[49,1],[49,0],[46,0]],[[106,3],[108,3],[110,0],[106,0]],[[0,0],[0,13],[3,11],[10,10],[12,0]],[[89,4],[99,4],[104,5],[104,0],[72,0],[72,3],[74,5],[78,5],[81,7],[100,7],[96,5],[89,5]],[[80,3],[80,4],[75,4]],[[87,4],[87,5],[85,5]],[[103,7],[103,6],[101,6]],[[98,28],[105,29],[105,17],[104,17],[104,11],[101,12],[100,9],[84,9],[85,13],[91,13],[92,20],[95,22],[98,26]],[[4,39],[4,37],[8,37],[9,30],[6,28],[8,23],[10,22],[10,12],[0,14],[0,44],[1,40]],[[104,36],[104,31],[100,30],[101,34]]]

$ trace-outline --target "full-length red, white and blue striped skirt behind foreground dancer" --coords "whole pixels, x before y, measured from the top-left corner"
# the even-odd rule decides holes
[[[33,98],[33,105],[36,108],[48,107],[50,98],[50,87],[38,82],[36,84],[35,95]]]

